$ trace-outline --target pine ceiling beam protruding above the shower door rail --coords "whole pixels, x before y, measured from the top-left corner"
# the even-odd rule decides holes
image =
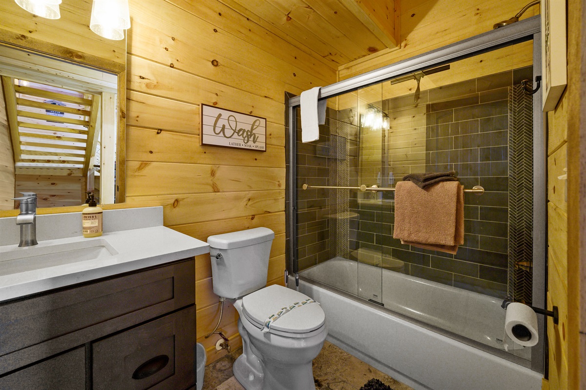
[[[372,33],[387,47],[397,47],[398,24],[395,14],[398,13],[395,3],[399,0],[340,0],[356,18],[368,27]]]

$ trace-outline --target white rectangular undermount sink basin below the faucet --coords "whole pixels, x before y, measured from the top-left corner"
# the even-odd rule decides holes
[[[105,239],[0,250],[0,277],[57,265],[99,260],[118,254]]]

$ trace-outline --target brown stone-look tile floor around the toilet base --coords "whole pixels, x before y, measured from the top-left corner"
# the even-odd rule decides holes
[[[232,374],[232,364],[241,354],[242,348],[238,348],[208,365],[203,390],[244,390]],[[372,378],[380,379],[393,390],[413,390],[328,341],[314,360],[316,390],[359,390]]]

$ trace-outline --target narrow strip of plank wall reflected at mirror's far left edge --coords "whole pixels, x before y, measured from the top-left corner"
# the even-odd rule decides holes
[[[4,90],[0,83],[0,210],[14,208],[14,156],[8,129]]]

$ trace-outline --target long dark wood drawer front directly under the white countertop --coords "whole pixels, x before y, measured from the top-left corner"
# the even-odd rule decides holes
[[[29,364],[26,357],[39,360],[190,305],[195,302],[194,291],[191,259],[4,303],[0,305],[0,373],[20,367],[9,367],[16,360]],[[52,341],[42,344],[47,340]],[[4,358],[27,347],[26,353]]]

